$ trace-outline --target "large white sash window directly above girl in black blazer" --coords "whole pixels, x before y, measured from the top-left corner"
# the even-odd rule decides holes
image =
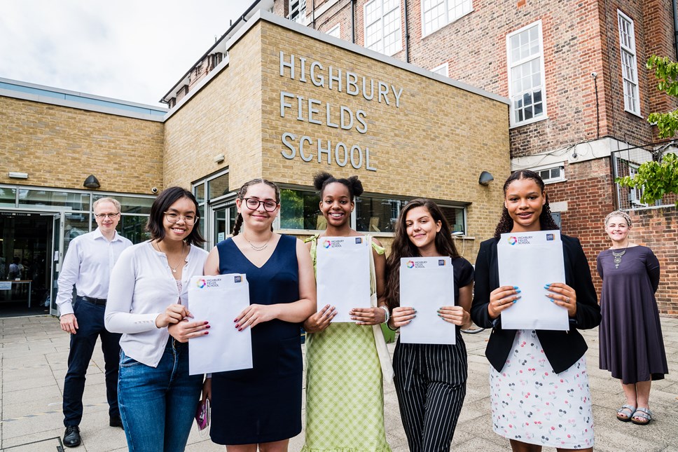
[[[506,36],[511,127],[546,119],[541,20]]]

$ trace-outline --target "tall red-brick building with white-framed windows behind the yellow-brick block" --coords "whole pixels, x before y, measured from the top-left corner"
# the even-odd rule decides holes
[[[614,183],[676,149],[646,118],[678,102],[656,89],[644,67],[650,55],[677,59],[676,1],[270,3],[253,6],[508,97],[511,170],[544,178],[552,210],[562,230],[581,239],[597,285],[595,257],[609,246],[602,220],[616,208],[632,210],[632,240],[652,247],[663,269],[660,312],[678,315],[676,198],[646,206],[636,190]],[[441,111],[448,107],[436,102]]]

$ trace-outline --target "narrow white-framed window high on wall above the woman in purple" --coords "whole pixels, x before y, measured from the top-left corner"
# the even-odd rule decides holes
[[[624,109],[640,116],[638,93],[638,62],[635,49],[633,21],[617,10],[619,21],[619,48],[621,53],[621,76],[624,83]]]

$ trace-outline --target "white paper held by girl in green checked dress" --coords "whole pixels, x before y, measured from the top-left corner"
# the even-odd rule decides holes
[[[364,236],[321,237],[316,248],[318,309],[335,306],[332,322],[354,322],[352,308],[370,307],[370,254]]]

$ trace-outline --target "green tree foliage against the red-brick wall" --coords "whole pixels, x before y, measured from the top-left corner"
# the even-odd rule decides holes
[[[672,62],[667,57],[652,55],[646,67],[654,70],[658,90],[678,97],[677,62]],[[659,137],[674,137],[678,130],[678,109],[667,113],[651,113],[647,121],[657,125]],[[621,186],[641,189],[640,202],[644,204],[653,204],[670,193],[678,194],[678,156],[675,153],[663,156],[659,153],[657,161],[643,163],[633,177],[617,177],[615,182]]]

